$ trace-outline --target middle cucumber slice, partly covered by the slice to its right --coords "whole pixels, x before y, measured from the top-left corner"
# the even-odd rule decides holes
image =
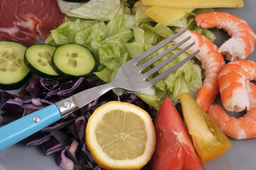
[[[25,52],[24,63],[31,72],[40,77],[54,79],[59,74],[52,68],[51,60],[56,47],[48,44],[38,44],[28,47]]]

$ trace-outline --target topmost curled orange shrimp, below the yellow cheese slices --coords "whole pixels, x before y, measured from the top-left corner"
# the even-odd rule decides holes
[[[243,60],[253,52],[256,35],[243,19],[223,12],[200,13],[195,19],[201,28],[216,27],[228,32],[231,38],[218,50],[228,60]]]

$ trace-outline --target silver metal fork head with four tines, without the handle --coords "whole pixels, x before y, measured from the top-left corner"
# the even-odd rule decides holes
[[[152,76],[152,74],[155,74],[158,70],[162,69],[162,67],[165,67],[169,62],[172,62],[175,58],[179,57],[179,55],[182,55],[183,52],[189,49],[192,45],[194,45],[194,42],[192,42],[187,47],[184,47],[184,49],[177,52],[175,55],[172,55],[172,57],[169,57],[164,62],[161,62],[156,67],[153,67],[152,69],[148,70],[147,72],[143,72],[146,68],[150,67],[155,62],[162,59],[162,57],[165,57],[165,55],[169,54],[169,52],[172,52],[173,50],[177,49],[180,45],[182,45],[184,42],[187,42],[191,37],[185,38],[181,42],[177,43],[176,45],[170,47],[165,52],[162,52],[160,55],[157,55],[156,57],[153,57],[152,59],[148,60],[147,62],[138,65],[139,62],[145,60],[150,55],[152,55],[157,50],[160,50],[161,47],[164,47],[169,42],[177,38],[179,35],[184,33],[186,30],[182,30],[179,33],[172,35],[171,37],[167,38],[166,40],[160,42],[159,44],[152,47],[150,50],[147,50],[143,52],[143,54],[139,55],[138,57],[135,57],[132,60],[129,60],[125,64],[123,64],[116,73],[116,78],[112,81],[116,87],[121,89],[126,89],[128,91],[143,91],[145,89],[148,89],[150,86],[153,86],[157,84],[157,82],[161,81],[162,79],[165,79],[169,74],[174,72],[176,69],[181,67],[183,64],[185,64],[187,61],[189,61],[192,57],[194,57],[199,50],[194,52],[193,54],[189,55],[187,58],[182,60],[181,62],[175,64],[173,67],[167,69],[162,74],[157,75],[156,77],[150,79],[147,81],[148,77]]]

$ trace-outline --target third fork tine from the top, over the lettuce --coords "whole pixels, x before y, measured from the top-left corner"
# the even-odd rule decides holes
[[[191,46],[193,46],[195,44],[195,42],[192,42],[191,44],[189,44],[187,47],[184,47],[182,50],[180,50],[179,52],[177,52],[176,54],[172,55],[172,57],[169,57],[167,60],[165,60],[164,62],[161,62],[160,64],[158,64],[156,67],[153,67],[152,69],[150,69],[148,72],[144,73],[144,76],[146,77],[145,79],[147,79],[148,77],[150,77],[152,74],[154,74],[155,72],[157,72],[158,70],[162,69],[162,67],[165,67],[169,62],[172,62],[172,60],[176,59],[177,57],[179,57],[179,55],[182,55],[183,52],[187,51]]]

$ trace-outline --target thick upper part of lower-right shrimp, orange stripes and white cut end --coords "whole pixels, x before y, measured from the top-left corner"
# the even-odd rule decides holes
[[[256,78],[256,62],[237,60],[226,64],[218,76],[221,101],[227,111],[250,110],[249,85]],[[243,98],[243,100],[241,100]]]

